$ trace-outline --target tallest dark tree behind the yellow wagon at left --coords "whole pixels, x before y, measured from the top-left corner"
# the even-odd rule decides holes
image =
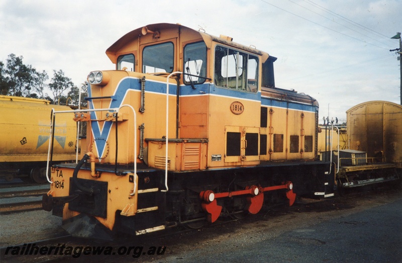
[[[23,57],[17,57],[10,54],[7,58],[7,67],[5,69],[6,82],[8,85],[8,95],[27,96],[32,89],[32,75],[36,74],[36,69],[31,65],[25,65]]]

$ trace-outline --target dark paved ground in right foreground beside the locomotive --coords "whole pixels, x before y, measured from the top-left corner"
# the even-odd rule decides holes
[[[351,227],[359,227],[360,232],[351,231]],[[402,192],[379,191],[317,203],[302,200],[288,210],[264,209],[246,220],[154,240],[149,245],[163,243],[167,246],[166,253],[141,259],[144,262],[394,261],[381,254],[369,257],[382,251],[402,262],[400,233]],[[384,238],[387,234],[388,243]],[[395,240],[398,242],[393,244]]]

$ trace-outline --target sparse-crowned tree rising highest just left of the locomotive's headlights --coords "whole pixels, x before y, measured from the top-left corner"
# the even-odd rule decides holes
[[[71,78],[64,76],[63,70],[53,70],[52,81],[49,83],[49,89],[53,94],[53,103],[66,104],[67,97],[63,92],[71,90],[74,87],[74,83]]]

